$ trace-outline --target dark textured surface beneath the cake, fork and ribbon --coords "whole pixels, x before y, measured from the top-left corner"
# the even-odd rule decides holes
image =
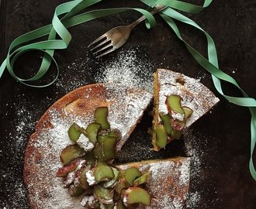
[[[40,26],[50,24],[57,5],[64,1],[55,0],[1,0],[0,9],[0,61],[4,60],[9,44],[16,37]],[[202,4],[202,1],[188,1]],[[140,6],[139,1],[102,1],[95,8],[115,6]],[[29,208],[26,189],[22,183],[22,160],[29,135],[33,133],[36,121],[58,98],[80,85],[95,83],[95,74],[100,74],[101,66],[114,60],[119,53],[95,60],[87,50],[88,43],[95,37],[111,29],[112,26],[132,22],[139,17],[137,12],[126,12],[104,19],[97,19],[70,29],[73,36],[67,50],[56,52],[61,69],[59,80],[50,87],[26,87],[15,81],[7,72],[1,78],[1,122],[0,122],[0,208]],[[209,8],[189,17],[205,29],[216,43],[220,69],[232,75],[240,87],[256,98],[256,3],[243,0],[216,0]],[[192,58],[185,46],[159,16],[157,26],[147,30],[137,26],[122,50],[134,49],[141,59],[150,60],[154,69],[168,68],[191,77],[202,77],[218,97],[220,104],[211,114],[202,117],[192,125],[193,135],[202,152],[201,170],[192,178],[192,194],[200,194],[192,208],[248,208],[256,205],[256,182],[252,179],[248,162],[250,156],[250,114],[247,108],[228,103],[214,89],[211,77]],[[198,30],[179,24],[183,37],[206,54],[206,39]],[[89,57],[89,59],[88,59]],[[40,54],[24,54],[17,62],[17,74],[26,77],[38,66]],[[86,62],[85,62],[86,61]],[[74,67],[72,67],[74,65]],[[20,73],[22,72],[22,73]],[[152,72],[148,72],[151,74]],[[71,86],[74,77],[82,81]],[[71,87],[64,88],[70,85]],[[238,96],[230,85],[223,84],[227,94]],[[22,124],[21,124],[22,123]],[[148,120],[138,128],[145,129]],[[144,130],[146,132],[146,130]],[[132,135],[132,140],[144,137],[140,131]],[[185,155],[183,140],[175,141],[168,151],[159,156]],[[126,145],[126,149],[129,146]],[[134,152],[134,150],[133,150]],[[133,157],[140,156],[134,152]],[[147,156],[146,156],[147,157]]]

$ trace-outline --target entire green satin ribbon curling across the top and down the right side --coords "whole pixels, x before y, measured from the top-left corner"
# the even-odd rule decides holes
[[[249,161],[249,169],[251,172],[251,176],[254,178],[254,180],[256,180],[256,170],[254,168],[253,163],[254,146],[256,144],[256,101],[254,98],[250,98],[240,88],[239,84],[237,84],[237,81],[235,81],[233,77],[230,77],[228,74],[225,74],[222,70],[219,69],[216,47],[213,42],[213,39],[209,36],[209,34],[206,33],[194,21],[176,11],[179,10],[182,12],[195,14],[201,12],[203,9],[206,9],[206,7],[208,7],[212,1],[213,0],[205,0],[202,6],[198,6],[177,0],[140,0],[140,2],[144,2],[144,4],[150,7],[157,4],[168,5],[168,9],[164,9],[160,12],[161,17],[164,19],[165,22],[167,22],[168,26],[170,26],[171,29],[173,29],[176,36],[178,36],[178,39],[181,39],[182,42],[185,43],[185,46],[192,54],[192,57],[194,57],[195,60],[197,60],[197,62],[203,68],[205,68],[210,74],[212,74],[213,84],[216,87],[216,90],[221,95],[223,95],[223,97],[226,98],[227,101],[230,101],[235,105],[240,105],[249,108],[249,111],[251,112],[251,158]],[[156,25],[154,16],[151,15],[150,12],[148,12],[145,9],[96,9],[93,11],[78,14],[78,12],[80,12],[82,9],[88,8],[90,5],[94,5],[98,2],[101,2],[101,0],[74,0],[71,2],[66,2],[64,4],[58,5],[54,12],[52,24],[48,26],[43,26],[40,29],[35,29],[32,32],[19,36],[11,43],[11,45],[9,46],[7,57],[0,67],[0,77],[2,77],[5,68],[7,68],[12,77],[14,77],[17,81],[21,82],[22,84],[26,84],[30,87],[47,87],[50,84],[53,84],[57,80],[59,74],[57,61],[54,59],[54,50],[63,50],[67,48],[72,38],[71,33],[68,32],[67,28],[70,28],[72,26],[77,26],[81,23],[88,22],[93,19],[98,19],[100,17],[104,17],[107,15],[114,15],[119,12],[126,12],[131,9],[136,10],[137,12],[140,12],[141,14],[146,16],[146,26],[148,29]],[[59,19],[59,16],[63,17]],[[184,22],[186,24],[189,24],[190,26],[194,26],[196,29],[199,29],[200,32],[205,34],[208,46],[208,59],[203,57],[198,51],[196,51],[192,46],[190,46],[189,43],[185,42],[185,40],[182,39],[182,35],[178,30],[178,26],[176,25],[175,20]],[[61,39],[57,39],[57,35]],[[48,36],[48,39],[36,43],[29,43],[43,36]],[[14,63],[16,62],[18,57],[22,55],[22,53],[26,53],[30,50],[43,51],[43,60],[40,69],[33,77],[29,79],[22,79],[21,77],[16,76],[16,74],[14,73]],[[53,81],[50,81],[48,84],[45,85],[29,84],[30,81],[40,80],[43,77],[43,75],[47,73],[47,70],[49,69],[50,63],[52,61],[54,61],[57,70],[56,77],[54,77]],[[224,94],[223,89],[221,87],[221,81],[227,81],[228,83],[237,87],[238,90],[243,94],[243,97],[237,98]]]

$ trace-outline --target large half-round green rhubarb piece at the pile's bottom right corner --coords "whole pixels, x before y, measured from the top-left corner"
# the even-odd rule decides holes
[[[145,204],[150,206],[150,194],[140,187],[130,187],[124,192],[124,204]]]

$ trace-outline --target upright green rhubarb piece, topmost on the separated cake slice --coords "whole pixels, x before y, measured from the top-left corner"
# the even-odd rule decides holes
[[[181,99],[181,96],[171,94],[166,101],[171,118],[179,121],[183,121],[185,118],[185,111],[182,108]]]

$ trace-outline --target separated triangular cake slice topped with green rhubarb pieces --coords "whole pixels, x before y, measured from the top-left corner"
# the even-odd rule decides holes
[[[219,98],[192,77],[171,70],[157,69],[154,74],[154,119],[152,144],[155,151],[179,138],[205,115]]]

